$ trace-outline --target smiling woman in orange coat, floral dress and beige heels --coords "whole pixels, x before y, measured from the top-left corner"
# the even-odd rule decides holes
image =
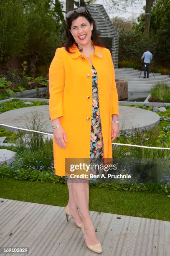
[[[70,174],[66,159],[111,159],[112,141],[119,135],[118,95],[110,51],[103,47],[86,8],[69,11],[66,20],[64,47],[56,50],[49,69],[54,168],[59,176]],[[67,220],[71,216],[81,227],[87,247],[101,253],[89,215],[89,179],[68,177],[67,184]]]

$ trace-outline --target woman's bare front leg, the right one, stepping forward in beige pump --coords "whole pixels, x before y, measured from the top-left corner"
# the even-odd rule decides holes
[[[89,181],[75,179],[72,182],[73,197],[79,208],[84,223],[84,234],[88,245],[95,245],[99,242],[94,230],[93,222],[89,215]],[[88,198],[87,198],[88,196]]]

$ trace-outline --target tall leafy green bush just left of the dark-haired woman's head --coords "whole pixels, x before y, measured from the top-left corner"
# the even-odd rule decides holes
[[[25,55],[38,55],[41,64],[51,61],[54,49],[60,45],[58,37],[60,23],[56,23],[53,10],[49,1],[30,1],[24,6],[27,20],[28,41],[25,47]]]

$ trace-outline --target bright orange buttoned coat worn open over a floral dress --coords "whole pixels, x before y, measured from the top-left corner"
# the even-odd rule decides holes
[[[112,114],[119,115],[119,102],[114,66],[109,49],[94,46],[91,62],[97,72],[104,158],[112,158]],[[65,158],[90,156],[92,76],[91,66],[77,46],[68,53],[64,47],[56,49],[49,68],[49,113],[51,121],[60,117],[66,132],[66,148],[60,148],[53,137],[56,175],[66,176]],[[87,97],[87,96],[90,96]],[[89,117],[89,120],[88,120]]]

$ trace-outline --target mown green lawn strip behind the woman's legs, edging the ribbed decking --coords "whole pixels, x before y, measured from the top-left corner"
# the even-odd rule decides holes
[[[46,205],[66,206],[67,184],[0,179],[0,197]],[[170,221],[169,198],[145,192],[89,188],[89,210]]]

